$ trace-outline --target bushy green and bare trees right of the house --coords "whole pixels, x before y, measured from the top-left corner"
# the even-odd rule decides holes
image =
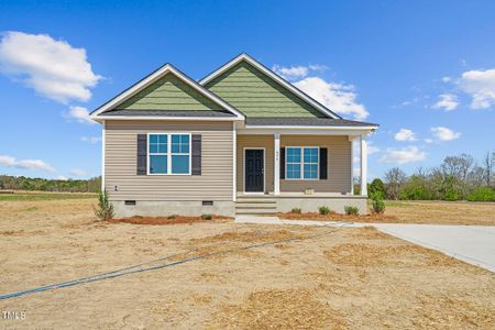
[[[404,200],[495,201],[495,152],[482,163],[468,154],[448,156],[438,167],[418,168],[408,176],[398,167],[369,185],[369,195]]]

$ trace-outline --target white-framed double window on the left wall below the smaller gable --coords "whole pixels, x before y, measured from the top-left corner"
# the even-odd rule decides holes
[[[190,174],[190,134],[148,134],[148,174]]]

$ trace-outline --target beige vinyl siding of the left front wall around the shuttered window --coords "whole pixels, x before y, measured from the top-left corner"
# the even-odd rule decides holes
[[[136,175],[136,136],[150,132],[201,134],[201,175]],[[112,200],[232,200],[232,122],[107,121],[105,155]]]

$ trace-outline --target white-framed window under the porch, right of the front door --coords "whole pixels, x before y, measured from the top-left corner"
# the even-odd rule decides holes
[[[286,179],[318,179],[319,148],[317,146],[287,146]]]

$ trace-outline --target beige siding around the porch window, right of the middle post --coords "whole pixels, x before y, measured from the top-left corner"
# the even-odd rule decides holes
[[[280,180],[280,191],[302,193],[306,188],[315,193],[351,193],[352,147],[348,136],[340,135],[282,135],[280,146],[320,146],[328,148],[328,179]]]

